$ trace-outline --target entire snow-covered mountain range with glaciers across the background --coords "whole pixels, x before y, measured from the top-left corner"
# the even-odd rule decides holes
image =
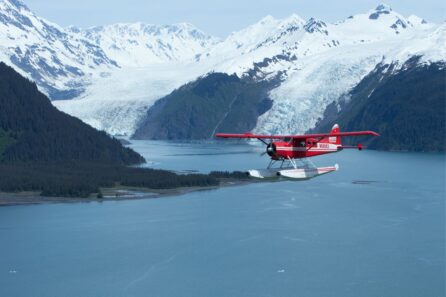
[[[413,71],[433,65],[442,75],[446,61],[444,22],[404,17],[387,5],[336,23],[295,14],[285,19],[267,16],[220,40],[190,24],[61,28],[18,0],[4,0],[0,41],[1,61],[36,81],[51,99],[71,99],[53,101],[59,109],[111,134],[137,131],[138,138],[207,138],[209,133],[194,129],[201,129],[200,120],[211,118],[212,131],[303,133],[328,122],[327,114],[340,115],[348,102],[363,100],[353,96],[354,90],[379,69],[391,77],[407,65]],[[191,86],[207,85],[209,76],[211,81],[219,77],[218,85],[225,85],[233,74],[238,81],[231,83],[240,93],[217,94],[221,110],[205,117],[199,112],[183,115],[184,133],[175,132],[179,122],[166,124],[175,122],[173,115],[187,105],[205,111],[206,98],[217,100],[206,94],[194,97],[193,104],[182,103],[191,98]],[[237,105],[229,104],[230,96],[246,97],[244,84],[250,85],[252,96],[263,94],[244,100],[243,110],[254,110],[246,117],[235,110]],[[402,102],[403,93],[386,93],[385,100]],[[269,103],[257,112],[264,99]],[[149,132],[157,125],[164,132]]]

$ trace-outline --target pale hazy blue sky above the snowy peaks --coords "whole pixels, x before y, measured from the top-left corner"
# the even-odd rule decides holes
[[[0,0],[1,1],[1,0]],[[266,15],[282,18],[297,13],[304,19],[329,22],[375,8],[370,0],[24,0],[38,15],[61,26],[90,27],[117,22],[172,24],[189,22],[225,37]],[[446,20],[444,0],[388,0],[402,15],[416,14],[428,21]]]

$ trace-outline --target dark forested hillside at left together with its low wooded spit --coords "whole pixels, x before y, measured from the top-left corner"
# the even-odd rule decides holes
[[[0,192],[89,197],[116,185],[171,189],[218,184],[210,175],[126,166],[143,161],[118,140],[58,111],[35,84],[0,63]]]

